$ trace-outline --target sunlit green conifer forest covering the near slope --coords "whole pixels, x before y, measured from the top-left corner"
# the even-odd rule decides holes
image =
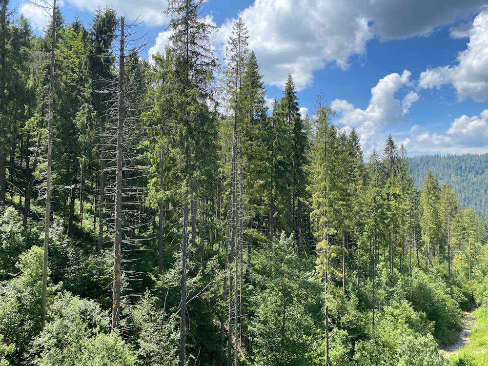
[[[268,108],[202,6],[149,62],[113,9],[36,35],[0,0],[0,366],[486,365],[441,350],[488,323],[486,218],[291,75]]]

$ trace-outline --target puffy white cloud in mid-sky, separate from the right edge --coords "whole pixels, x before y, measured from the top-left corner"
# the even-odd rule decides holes
[[[341,116],[337,123],[356,128],[360,142],[365,152],[383,146],[385,136],[383,130],[388,126],[406,123],[411,105],[418,101],[419,95],[409,92],[400,103],[395,94],[404,86],[410,84],[411,73],[405,70],[402,75],[397,73],[386,75],[371,88],[371,99],[365,110],[355,108],[345,100],[334,100],[331,108]]]

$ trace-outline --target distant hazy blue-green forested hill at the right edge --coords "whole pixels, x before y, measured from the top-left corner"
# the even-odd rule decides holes
[[[421,188],[429,170],[439,186],[448,184],[463,207],[488,217],[488,154],[424,155],[408,159],[415,187]]]

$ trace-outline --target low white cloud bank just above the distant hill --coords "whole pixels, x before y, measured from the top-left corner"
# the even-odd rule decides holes
[[[415,153],[485,153],[488,150],[488,109],[479,116],[463,115],[450,123],[445,134],[410,130],[405,139],[408,150]]]

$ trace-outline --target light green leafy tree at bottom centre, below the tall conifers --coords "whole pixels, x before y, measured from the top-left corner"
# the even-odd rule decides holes
[[[282,234],[280,240],[255,253],[251,276],[255,316],[249,330],[254,364],[310,365],[305,350],[314,342],[315,325],[308,309],[315,304],[307,294],[320,294],[310,261],[299,258],[293,240]]]

